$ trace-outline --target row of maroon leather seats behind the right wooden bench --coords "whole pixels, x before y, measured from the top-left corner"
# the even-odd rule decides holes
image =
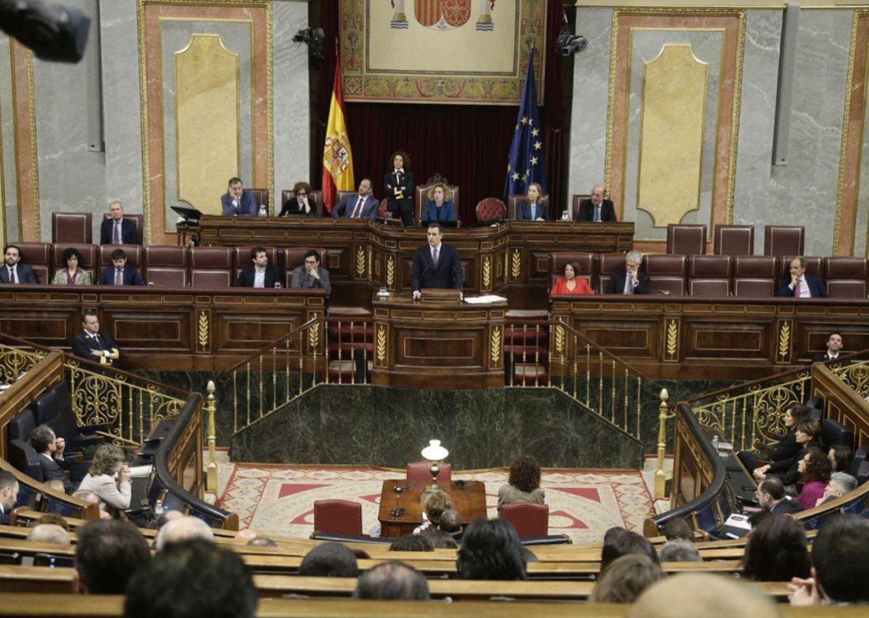
[[[602,292],[617,270],[624,269],[623,253],[551,254],[552,280],[564,275],[567,262],[580,264],[580,276]],[[861,257],[806,257],[806,272],[826,283],[832,298],[866,298],[869,262]],[[674,296],[776,296],[789,276],[791,256],[685,256],[650,254],[640,270],[651,279],[652,293]]]

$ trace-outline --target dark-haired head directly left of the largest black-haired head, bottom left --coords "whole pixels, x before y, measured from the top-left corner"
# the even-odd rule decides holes
[[[76,579],[85,594],[123,595],[151,561],[145,537],[129,522],[88,522],[76,535]]]

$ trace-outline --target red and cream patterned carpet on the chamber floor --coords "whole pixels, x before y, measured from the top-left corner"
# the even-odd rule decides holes
[[[307,537],[314,531],[314,501],[334,498],[362,502],[362,528],[367,531],[377,523],[383,481],[404,475],[388,468],[234,464],[225,455],[220,459],[218,506],[237,513],[242,528],[265,535]],[[641,531],[643,519],[659,506],[653,504],[653,475],[653,459],[643,471],[544,470],[541,486],[547,494],[550,534],[599,542],[613,526]],[[453,478],[485,482],[488,515],[496,516],[506,469],[455,472]]]

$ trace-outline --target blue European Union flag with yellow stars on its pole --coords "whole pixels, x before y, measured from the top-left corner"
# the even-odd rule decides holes
[[[528,71],[525,86],[522,88],[522,101],[510,154],[507,156],[507,182],[504,183],[504,197],[526,195],[528,185],[540,183],[541,196],[546,189],[546,154],[543,151],[543,127],[537,111],[537,86],[534,84],[534,54],[528,53]]]

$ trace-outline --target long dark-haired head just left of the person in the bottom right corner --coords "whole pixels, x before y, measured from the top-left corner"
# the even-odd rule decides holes
[[[786,515],[771,515],[748,535],[742,575],[753,581],[790,581],[809,573],[803,525]]]

